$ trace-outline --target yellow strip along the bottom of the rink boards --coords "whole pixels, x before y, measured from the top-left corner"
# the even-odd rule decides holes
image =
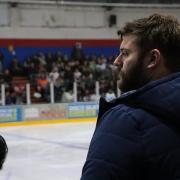
[[[42,124],[61,124],[61,123],[74,123],[74,122],[95,122],[95,121],[96,121],[96,118],[49,119],[49,120],[37,120],[37,121],[20,121],[20,122],[0,123],[0,127],[30,126],[30,125],[42,125]]]

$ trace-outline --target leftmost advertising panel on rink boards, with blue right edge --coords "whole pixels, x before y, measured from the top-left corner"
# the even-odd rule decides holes
[[[20,107],[2,107],[0,108],[0,122],[21,121],[21,112]]]

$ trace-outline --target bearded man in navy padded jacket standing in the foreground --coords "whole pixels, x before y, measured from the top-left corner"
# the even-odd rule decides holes
[[[153,14],[120,33],[123,95],[100,99],[81,180],[180,179],[180,23]]]

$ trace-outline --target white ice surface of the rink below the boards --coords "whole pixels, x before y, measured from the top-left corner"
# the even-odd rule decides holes
[[[0,180],[79,180],[95,123],[1,127],[9,153]]]

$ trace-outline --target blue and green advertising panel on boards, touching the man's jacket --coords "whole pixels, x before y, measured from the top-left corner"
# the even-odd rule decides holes
[[[96,117],[98,114],[99,106],[97,104],[69,104],[68,105],[68,118],[84,118]]]

